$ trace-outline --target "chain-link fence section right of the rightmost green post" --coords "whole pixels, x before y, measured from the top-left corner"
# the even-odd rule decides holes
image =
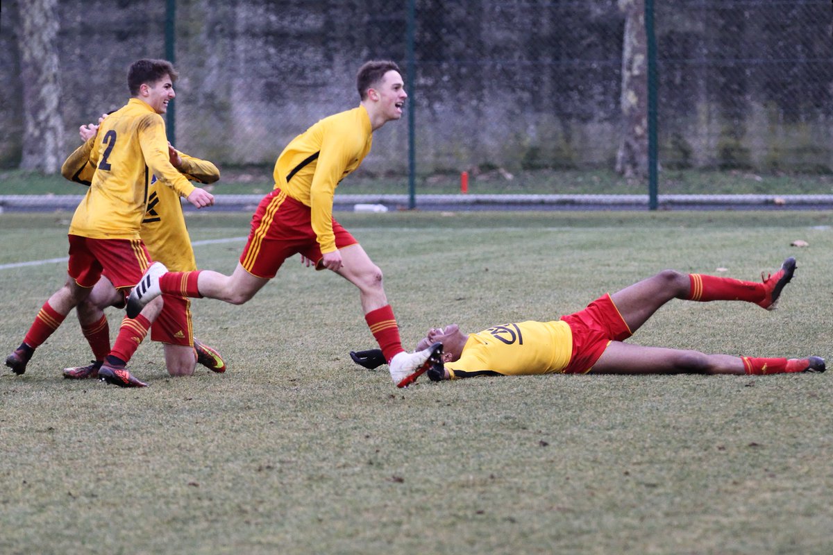
[[[658,2],[661,166],[829,174],[831,16],[828,2]]]

